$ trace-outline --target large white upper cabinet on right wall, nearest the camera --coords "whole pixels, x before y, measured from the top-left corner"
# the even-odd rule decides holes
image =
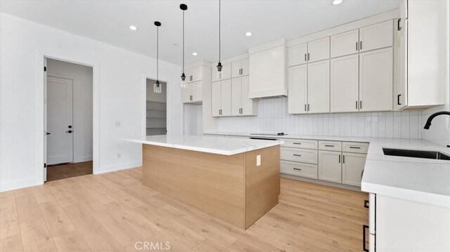
[[[448,1],[400,1],[397,32],[396,84],[393,103],[397,110],[426,108],[445,103],[446,6]],[[396,25],[398,20],[396,20]],[[396,27],[397,28],[397,27]]]

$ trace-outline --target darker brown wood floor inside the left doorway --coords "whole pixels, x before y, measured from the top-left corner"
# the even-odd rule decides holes
[[[47,181],[92,174],[92,161],[47,166]]]

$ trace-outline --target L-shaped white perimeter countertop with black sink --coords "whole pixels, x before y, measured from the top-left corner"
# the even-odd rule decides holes
[[[233,132],[207,134],[370,142],[361,180],[362,191],[450,207],[450,161],[386,156],[383,154],[383,147],[388,147],[407,150],[432,150],[450,155],[450,148],[432,142],[397,138],[353,138],[325,135],[250,135],[250,133]]]

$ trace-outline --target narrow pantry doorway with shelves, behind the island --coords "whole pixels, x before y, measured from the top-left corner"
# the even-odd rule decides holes
[[[167,135],[167,83],[155,81],[146,79],[146,135]]]

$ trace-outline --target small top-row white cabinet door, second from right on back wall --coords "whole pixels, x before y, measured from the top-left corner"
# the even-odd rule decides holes
[[[359,29],[343,32],[330,37],[331,58],[359,52]]]

